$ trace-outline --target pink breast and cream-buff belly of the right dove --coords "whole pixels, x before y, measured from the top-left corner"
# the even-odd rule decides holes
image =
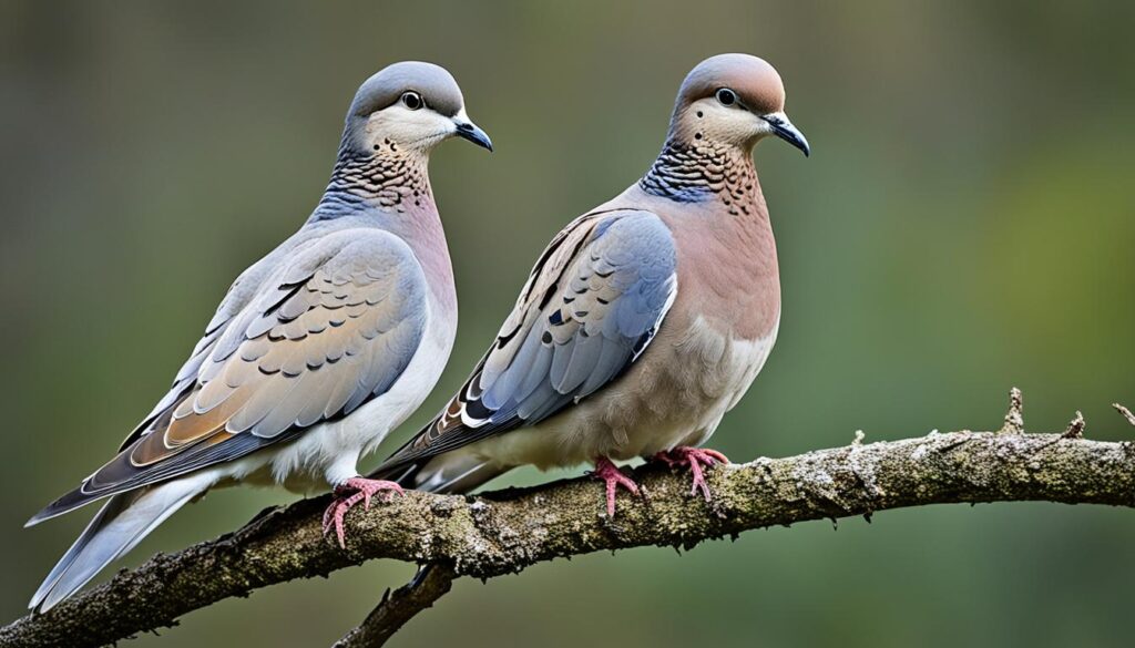
[[[597,212],[645,205],[673,235],[676,291],[655,338],[617,380],[538,424],[459,451],[540,469],[630,460],[713,435],[764,367],[780,328],[780,273],[767,214],[684,213],[632,187]],[[698,262],[714,259],[714,263]]]

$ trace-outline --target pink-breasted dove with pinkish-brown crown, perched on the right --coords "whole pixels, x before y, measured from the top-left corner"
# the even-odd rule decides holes
[[[692,473],[726,461],[701,449],[768,356],[780,277],[754,145],[808,154],[784,86],[747,54],[686,77],[662,153],[617,197],[577,218],[540,254],[488,353],[448,406],[375,473],[465,491],[523,464],[654,457]]]

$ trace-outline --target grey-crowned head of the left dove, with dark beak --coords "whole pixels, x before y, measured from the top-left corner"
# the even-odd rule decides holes
[[[465,115],[453,75],[434,64],[404,61],[359,87],[347,111],[343,145],[355,155],[428,154],[449,137],[493,150],[488,135]]]

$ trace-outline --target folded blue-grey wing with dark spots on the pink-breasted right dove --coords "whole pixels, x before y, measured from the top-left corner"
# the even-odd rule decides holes
[[[378,472],[538,423],[629,369],[678,292],[670,229],[646,211],[586,216],[553,241],[446,410]]]

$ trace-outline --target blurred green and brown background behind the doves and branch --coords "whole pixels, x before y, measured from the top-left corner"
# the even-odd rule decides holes
[[[355,87],[398,59],[447,66],[497,152],[435,155],[461,331],[384,449],[723,51],[779,67],[814,154],[756,152],[783,323],[715,447],[989,429],[1014,385],[1034,430],[1083,410],[1088,436],[1132,438],[1109,404],[1135,405],[1133,25],[1121,1],[0,3],[0,617],[91,512],[24,520],[109,456],[230,280],[304,220]],[[291,498],[212,494],[125,564]],[[411,573],[278,586],[131,646],[328,645]],[[918,508],[463,580],[394,643],[1129,646],[1133,581],[1130,511]]]

